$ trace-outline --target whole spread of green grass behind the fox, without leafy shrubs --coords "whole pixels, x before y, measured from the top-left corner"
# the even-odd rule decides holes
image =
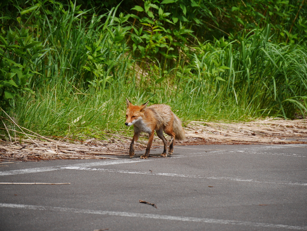
[[[49,4],[33,16],[33,36],[44,50],[34,62],[40,74],[29,80],[36,94],[22,94],[10,111],[19,125],[41,135],[126,132],[126,97],[169,104],[184,123],[306,112],[306,46],[274,43],[270,25],[189,46],[165,68],[158,59],[143,57],[140,64],[131,58],[133,25],[117,7],[99,15]]]

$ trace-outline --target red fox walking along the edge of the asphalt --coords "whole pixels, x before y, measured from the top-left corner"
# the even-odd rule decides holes
[[[147,107],[149,101],[141,106],[136,106],[127,98],[126,102],[127,110],[125,125],[134,126],[134,135],[129,150],[130,158],[134,156],[134,143],[138,141],[141,132],[148,133],[149,139],[145,154],[140,158],[148,158],[155,130],[164,144],[164,150],[161,156],[167,156],[167,141],[163,135],[163,131],[171,137],[168,153],[172,154],[174,149],[174,139],[183,140],[185,138],[185,131],[182,128],[180,119],[172,112],[170,107],[165,104],[154,104]]]

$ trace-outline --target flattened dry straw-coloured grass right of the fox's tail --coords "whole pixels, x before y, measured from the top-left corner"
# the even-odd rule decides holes
[[[221,143],[303,143],[299,139],[307,138],[307,120],[191,121],[185,131],[188,137]]]

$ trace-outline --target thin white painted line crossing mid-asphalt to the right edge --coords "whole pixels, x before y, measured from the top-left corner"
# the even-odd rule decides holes
[[[61,169],[75,169],[75,170],[87,170],[87,171],[100,171],[100,172],[110,172],[110,173],[128,173],[128,174],[143,174],[143,175],[154,175],[154,176],[169,176],[169,177],[188,177],[188,178],[199,178],[199,179],[214,179],[214,180],[228,180],[228,181],[245,181],[251,183],[265,183],[265,184],[280,184],[280,185],[301,185],[307,186],[307,183],[298,183],[298,182],[271,182],[271,181],[257,181],[252,179],[239,179],[231,177],[205,177],[200,175],[185,175],[185,174],[176,174],[176,173],[153,173],[153,172],[136,172],[129,170],[118,170],[118,169],[96,169],[96,168],[85,168],[85,167],[75,167],[67,166],[62,167]]]

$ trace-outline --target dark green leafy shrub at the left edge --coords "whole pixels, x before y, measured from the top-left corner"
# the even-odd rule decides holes
[[[25,14],[32,7],[25,11]],[[8,103],[17,95],[28,91],[34,92],[25,87],[31,76],[38,74],[32,60],[41,58],[45,53],[42,50],[41,42],[29,35],[28,30],[11,30],[0,32],[0,106],[8,106]],[[32,53],[32,54],[31,54]]]

